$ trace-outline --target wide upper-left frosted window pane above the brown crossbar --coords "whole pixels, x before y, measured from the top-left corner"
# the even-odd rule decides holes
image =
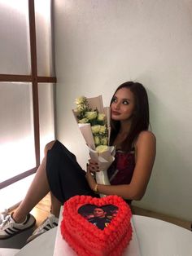
[[[0,0],[0,73],[31,73],[28,0]]]

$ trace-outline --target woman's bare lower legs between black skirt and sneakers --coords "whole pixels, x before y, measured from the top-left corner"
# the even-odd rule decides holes
[[[41,201],[41,199],[46,196],[48,192],[50,192],[50,186],[46,177],[46,155],[47,151],[52,148],[54,143],[55,141],[52,141],[46,145],[45,157],[37,169],[33,182],[28,188],[28,192],[24,197],[24,200],[20,203],[19,207],[12,215],[16,223],[22,223],[33,207],[37,205],[37,203]],[[60,208],[61,204],[55,198],[55,196],[51,196],[51,200],[52,214],[58,215],[58,209]]]

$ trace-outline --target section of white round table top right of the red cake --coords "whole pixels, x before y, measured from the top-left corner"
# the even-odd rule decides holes
[[[142,256],[190,256],[192,232],[156,218],[133,215]]]

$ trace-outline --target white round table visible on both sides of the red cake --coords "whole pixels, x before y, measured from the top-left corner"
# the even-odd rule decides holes
[[[133,224],[142,256],[192,255],[192,232],[189,230],[156,218],[138,215],[133,215]],[[37,237],[16,255],[53,256],[56,232],[57,227]]]

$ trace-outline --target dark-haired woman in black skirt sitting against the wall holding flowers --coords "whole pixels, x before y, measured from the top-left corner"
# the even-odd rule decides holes
[[[129,204],[141,200],[155,161],[155,135],[149,128],[149,105],[146,89],[138,82],[124,82],[111,99],[111,145],[116,145],[116,157],[108,170],[111,185],[97,184],[93,175],[98,164],[89,160],[87,172],[76,157],[58,140],[45,148],[45,157],[33,183],[20,206],[3,220],[0,239],[6,239],[35,224],[29,212],[50,192],[51,214],[28,241],[58,223],[60,206],[76,195],[118,195]],[[96,192],[96,193],[95,193]]]

